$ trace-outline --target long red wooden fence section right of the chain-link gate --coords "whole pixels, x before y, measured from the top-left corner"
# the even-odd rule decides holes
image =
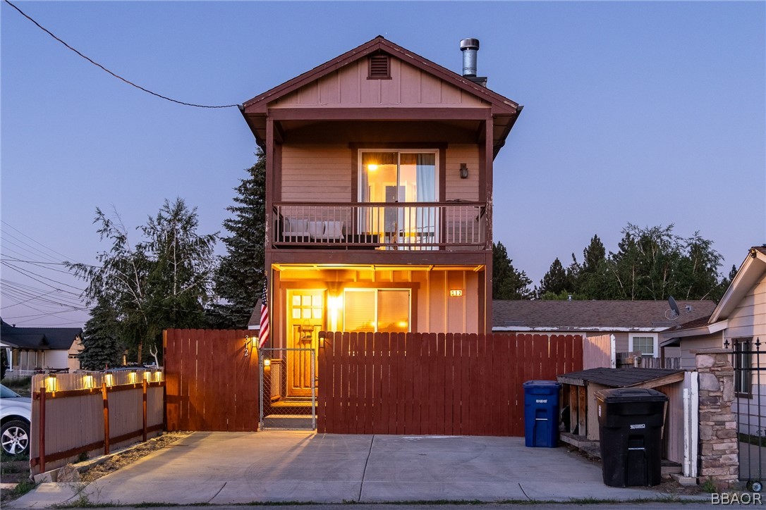
[[[579,335],[329,333],[317,430],[523,436],[523,383],[581,369]]]

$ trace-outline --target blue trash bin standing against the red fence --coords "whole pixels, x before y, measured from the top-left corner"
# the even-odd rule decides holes
[[[558,447],[558,389],[555,381],[524,383],[524,443],[527,447]]]

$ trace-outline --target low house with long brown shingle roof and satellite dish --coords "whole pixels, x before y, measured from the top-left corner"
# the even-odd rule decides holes
[[[679,349],[663,346],[660,334],[681,323],[708,317],[710,300],[679,300],[674,317],[667,301],[495,300],[493,331],[516,333],[614,335],[616,352],[637,352],[653,358],[679,356]],[[587,365],[587,363],[586,363]]]

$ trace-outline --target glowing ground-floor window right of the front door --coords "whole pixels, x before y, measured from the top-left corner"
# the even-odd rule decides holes
[[[343,330],[366,333],[408,333],[408,289],[345,289]]]

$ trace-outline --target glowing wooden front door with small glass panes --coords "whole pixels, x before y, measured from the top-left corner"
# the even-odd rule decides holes
[[[287,343],[292,349],[287,354],[287,395],[310,397],[313,385],[311,353],[318,347],[319,330],[325,329],[324,294],[322,290],[287,291],[289,307]],[[315,374],[318,377],[318,373]]]

